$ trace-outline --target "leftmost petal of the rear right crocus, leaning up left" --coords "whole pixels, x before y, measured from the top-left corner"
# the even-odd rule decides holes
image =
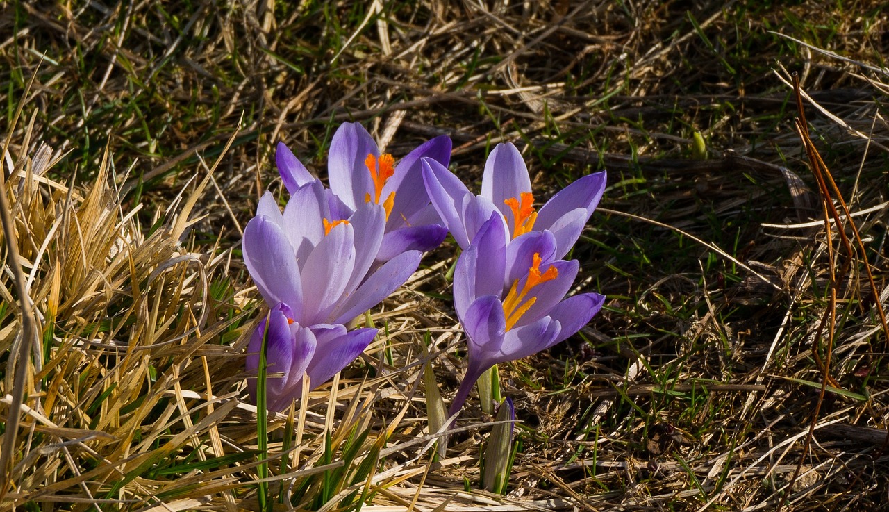
[[[444,165],[431,158],[421,158],[423,167],[423,182],[429,200],[436,208],[441,220],[451,231],[451,235],[462,248],[469,247],[469,238],[466,236],[466,227],[463,225],[462,213],[465,196],[472,196],[469,188],[463,182],[448,171]]]

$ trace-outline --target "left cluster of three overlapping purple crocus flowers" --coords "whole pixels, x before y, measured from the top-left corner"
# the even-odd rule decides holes
[[[360,124],[332,140],[331,188],[324,188],[283,144],[276,163],[291,197],[282,213],[270,193],[244,229],[244,262],[270,311],[252,333],[247,371],[266,342],[268,408],[285,409],[359,356],[376,329],[347,325],[412,275],[420,252],[440,244],[420,158],[447,164],[451,140],[436,138],[395,165]],[[256,380],[248,380],[255,395]]]

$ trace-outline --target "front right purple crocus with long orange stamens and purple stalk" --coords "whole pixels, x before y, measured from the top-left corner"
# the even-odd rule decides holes
[[[457,260],[453,303],[466,332],[469,364],[450,414],[459,411],[478,377],[494,364],[531,356],[586,325],[605,301],[598,293],[565,299],[577,260],[559,260],[557,238],[534,231],[507,242],[493,213]]]

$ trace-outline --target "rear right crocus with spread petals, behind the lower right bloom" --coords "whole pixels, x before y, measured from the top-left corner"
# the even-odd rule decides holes
[[[574,181],[544,204],[534,207],[531,178],[518,149],[498,144],[485,163],[482,193],[469,192],[444,165],[424,158],[423,180],[432,204],[462,249],[469,247],[482,224],[497,212],[509,239],[531,231],[556,237],[558,259],[571,250],[605,191],[605,171]]]

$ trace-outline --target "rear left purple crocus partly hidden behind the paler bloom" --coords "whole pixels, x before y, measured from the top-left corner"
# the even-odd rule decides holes
[[[383,243],[376,255],[388,261],[404,251],[434,249],[447,236],[434,206],[429,204],[420,159],[429,158],[447,167],[451,159],[451,139],[446,135],[428,140],[395,164],[357,123],[343,123],[331,141],[327,159],[330,190],[350,212],[362,204],[381,204],[386,212]],[[279,143],[276,164],[284,187],[293,191],[315,178]]]

